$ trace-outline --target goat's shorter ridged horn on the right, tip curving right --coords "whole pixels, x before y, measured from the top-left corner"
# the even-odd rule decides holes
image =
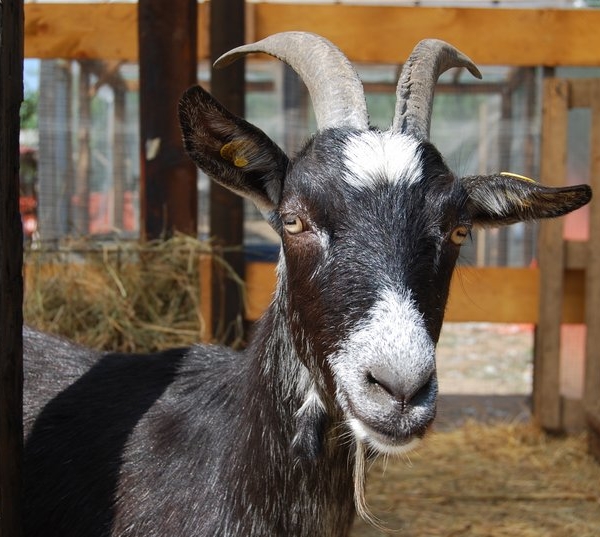
[[[392,130],[419,140],[429,139],[435,85],[451,67],[466,67],[474,77],[481,78],[475,64],[452,45],[438,39],[424,39],[417,44],[398,80]]]

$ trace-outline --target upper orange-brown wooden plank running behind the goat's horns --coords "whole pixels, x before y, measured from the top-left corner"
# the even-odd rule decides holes
[[[255,17],[257,38],[308,30],[354,61],[396,63],[420,39],[437,37],[478,64],[600,63],[600,13],[593,10],[258,4]]]

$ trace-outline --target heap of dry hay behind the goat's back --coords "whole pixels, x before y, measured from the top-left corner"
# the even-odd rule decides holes
[[[70,241],[25,256],[27,324],[97,349],[154,350],[200,341],[199,259],[209,243]],[[214,257],[232,276],[228,267]]]

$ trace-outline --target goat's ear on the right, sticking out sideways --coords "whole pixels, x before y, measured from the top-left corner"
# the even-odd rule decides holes
[[[588,185],[553,188],[508,173],[463,177],[461,182],[473,224],[480,226],[562,216],[592,199]]]

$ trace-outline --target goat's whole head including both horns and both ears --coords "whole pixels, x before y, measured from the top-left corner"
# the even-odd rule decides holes
[[[565,214],[587,203],[590,190],[502,174],[454,176],[427,141],[430,86],[449,66],[476,68],[447,44],[432,46],[449,61],[423,58],[422,44],[415,49],[399,83],[403,104],[392,128],[379,132],[369,128],[360,82],[333,45],[298,33],[261,43],[226,59],[259,50],[290,63],[309,81],[319,132],[290,161],[195,87],[180,104],[186,149],[216,181],[252,199],[282,237],[278,297],[313,386],[300,412],[339,413],[357,441],[404,451],[435,416],[435,344],[469,230]],[[421,72],[428,63],[434,72]],[[315,83],[315,64],[331,66],[333,86]],[[407,96],[423,84],[429,89]]]

